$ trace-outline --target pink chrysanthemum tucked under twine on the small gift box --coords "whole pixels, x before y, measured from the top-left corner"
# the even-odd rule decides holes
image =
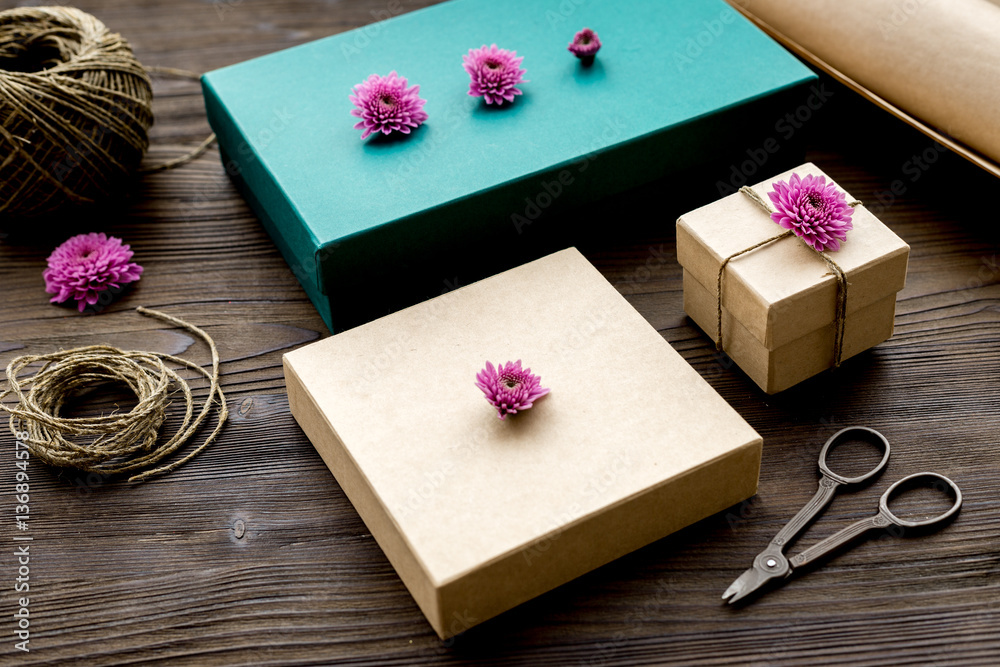
[[[840,242],[854,228],[854,209],[846,195],[833,183],[827,183],[825,176],[809,174],[799,178],[792,174],[788,183],[774,183],[774,190],[767,196],[777,209],[771,219],[791,229],[817,252],[840,250]]]

